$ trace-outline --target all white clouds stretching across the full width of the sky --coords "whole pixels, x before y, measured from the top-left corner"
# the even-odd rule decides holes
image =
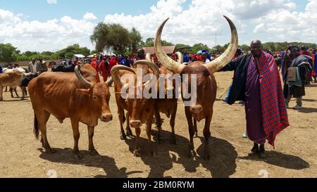
[[[173,43],[208,46],[225,44],[230,40],[230,28],[222,15],[235,23],[240,44],[252,39],[266,41],[306,41],[317,43],[317,1],[308,0],[306,9],[294,11],[293,0],[160,0],[144,14],[106,15],[105,23],[120,23],[128,29],[135,27],[145,39],[154,37],[157,27],[170,18],[163,39]],[[189,0],[187,0],[189,1]],[[0,9],[0,42],[11,43],[21,51],[56,51],[70,44],[93,49],[90,35],[97,25],[96,16],[87,12],[82,19],[63,16],[39,22],[25,20],[22,15]]]

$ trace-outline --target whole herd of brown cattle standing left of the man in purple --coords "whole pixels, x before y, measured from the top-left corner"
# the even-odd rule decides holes
[[[116,103],[118,105],[118,117],[120,120],[121,139],[126,139],[127,136],[132,135],[130,127],[135,129],[135,156],[139,156],[139,136],[141,133],[142,124],[146,124],[147,136],[149,141],[149,153],[154,155],[152,142],[151,142],[151,124],[155,117],[156,126],[159,129],[158,139],[161,137],[161,117],[160,113],[170,117],[170,127],[172,134],[170,141],[175,143],[175,116],[178,108],[178,96],[175,95],[176,84],[173,86],[166,86],[165,80],[162,81],[160,75],[189,75],[187,79],[191,84],[191,75],[197,77],[197,98],[195,103],[191,103],[190,106],[185,107],[185,113],[189,126],[189,148],[188,155],[192,157],[194,155],[194,142],[193,138],[197,135],[197,121],[206,120],[204,127],[204,158],[209,159],[209,139],[211,137],[210,124],[213,115],[213,103],[216,101],[216,79],[213,76],[214,72],[217,72],[230,62],[231,58],[235,55],[238,46],[237,30],[232,21],[228,20],[231,28],[231,42],[228,49],[222,56],[213,60],[211,63],[202,63],[196,61],[189,63],[188,65],[182,65],[182,60],[176,62],[169,58],[164,53],[161,46],[161,33],[167,20],[159,27],[155,39],[155,51],[156,56],[160,63],[164,66],[162,68],[157,67],[149,60],[139,60],[135,63],[133,68],[128,68],[123,65],[116,65],[111,70],[111,78],[107,82],[97,82],[98,73],[92,68],[91,65],[76,66],[75,72],[44,72],[38,77],[32,77],[30,82],[27,82],[28,91],[30,94],[30,100],[32,102],[32,108],[35,114],[35,126],[34,132],[37,139],[39,134],[41,136],[40,141],[47,153],[54,153],[54,149],[49,145],[46,137],[46,123],[49,117],[53,115],[57,120],[63,123],[63,120],[70,118],[73,128],[74,136],[74,148],[73,152],[80,158],[78,149],[78,141],[80,139],[79,122],[87,125],[89,132],[89,152],[92,155],[98,155],[98,152],[94,148],[93,136],[94,127],[97,126],[99,120],[102,122],[111,122],[113,115],[109,108],[109,101],[111,94],[109,91],[110,85],[114,82],[114,89],[116,94]],[[179,53],[180,54],[180,53]],[[148,58],[148,57],[147,57]],[[182,58],[179,56],[178,58]],[[137,91],[139,89],[147,89],[149,84],[153,84],[151,79],[142,84],[135,82],[128,82],[122,80],[124,75],[137,76],[137,68],[142,68],[144,74],[152,74],[156,77],[157,81],[154,86],[165,87],[164,93],[173,91],[173,98],[134,98],[121,96],[121,90],[126,87],[127,84],[133,84],[132,90]],[[21,70],[6,71],[0,75],[0,101],[2,98],[3,87],[21,87],[23,79],[30,74],[25,74]],[[137,77],[135,78],[137,79]],[[182,84],[185,84],[182,80]],[[25,87],[21,87],[23,90],[23,98],[25,96]],[[189,89],[182,86],[182,89]],[[158,89],[162,91],[161,89]],[[152,90],[154,91],[154,90]],[[159,91],[155,94],[160,94]],[[161,93],[162,94],[162,93]],[[183,101],[187,101],[187,98],[183,97]],[[56,105],[55,103],[59,103]],[[126,124],[126,129],[123,126]]]

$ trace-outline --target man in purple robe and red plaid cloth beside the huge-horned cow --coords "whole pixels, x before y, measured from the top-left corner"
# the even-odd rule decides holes
[[[223,70],[235,70],[227,103],[245,101],[247,136],[254,142],[250,156],[266,158],[266,140],[289,126],[278,66],[273,56],[262,51],[259,40],[251,42],[251,53],[232,60]]]

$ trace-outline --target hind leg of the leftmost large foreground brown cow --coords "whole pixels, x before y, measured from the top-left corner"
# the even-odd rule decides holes
[[[46,153],[55,153],[56,151],[54,149],[51,148],[51,146],[49,146],[49,141],[47,140],[47,136],[46,136],[46,124],[47,121],[49,120],[49,116],[51,114],[42,110],[40,113],[36,113],[36,117],[37,117],[37,123],[39,126],[39,130],[41,131],[41,142],[42,142],[42,146],[45,149]]]

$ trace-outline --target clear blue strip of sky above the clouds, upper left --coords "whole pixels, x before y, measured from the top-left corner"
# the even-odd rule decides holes
[[[46,0],[0,0],[0,8],[23,13],[27,20],[51,20],[64,15],[81,19],[86,12],[94,13],[99,21],[104,16],[114,13],[139,15],[149,12],[149,8],[156,5],[156,0],[57,0],[56,4],[48,4]],[[189,1],[184,6],[188,6]]]

